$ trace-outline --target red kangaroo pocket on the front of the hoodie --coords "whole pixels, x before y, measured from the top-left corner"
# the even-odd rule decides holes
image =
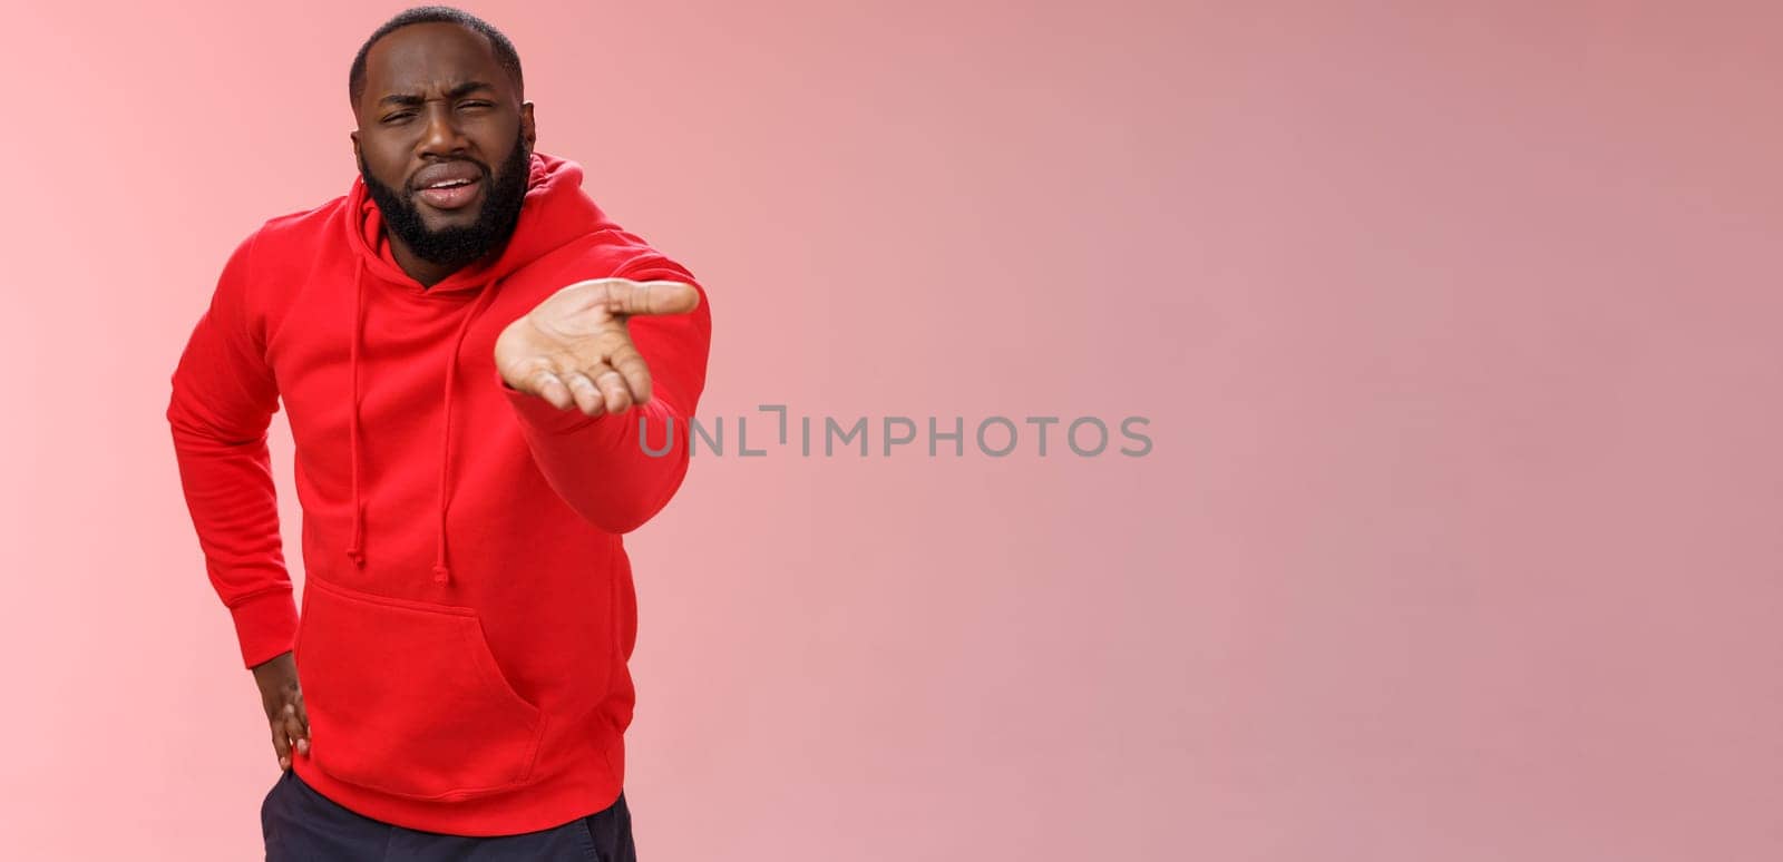
[[[469,607],[308,579],[294,652],[310,759],[349,784],[462,800],[526,784],[544,716],[501,675]]]

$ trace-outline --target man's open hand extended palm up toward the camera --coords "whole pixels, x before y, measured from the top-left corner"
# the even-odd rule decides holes
[[[624,413],[651,399],[651,369],[631,346],[626,319],[697,306],[699,290],[681,281],[576,281],[501,331],[496,370],[506,385],[558,410],[574,404],[590,417]]]

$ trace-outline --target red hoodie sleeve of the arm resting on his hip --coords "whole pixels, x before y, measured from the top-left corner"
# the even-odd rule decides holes
[[[291,650],[298,630],[266,449],[278,388],[248,310],[257,235],[225,264],[173,372],[166,413],[210,586],[234,616],[248,668]]]

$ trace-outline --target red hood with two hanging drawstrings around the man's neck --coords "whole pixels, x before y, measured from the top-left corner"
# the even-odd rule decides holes
[[[451,408],[453,392],[458,383],[458,349],[471,322],[489,308],[490,299],[510,272],[533,260],[563,248],[565,244],[596,233],[617,228],[596,207],[594,199],[581,191],[581,166],[569,159],[556,159],[533,151],[526,178],[526,198],[521,203],[521,216],[514,235],[494,260],[469,264],[431,287],[421,285],[390,258],[380,253],[387,239],[383,237],[383,214],[366,189],[362,176],[353,178],[353,191],[348,194],[348,219],[342,219],[348,232],[348,248],[357,256],[353,267],[353,338],[349,347],[349,365],[353,379],[353,404],[348,420],[348,458],[353,476],[353,540],[346,547],[346,556],[355,565],[366,565],[366,502],[360,493],[360,344],[366,329],[366,292],[382,287],[424,294],[435,297],[472,296],[471,308],[464,312],[453,349],[446,362],[446,390],[440,394],[440,467],[439,467],[439,540],[433,559],[433,581],[451,582],[451,556],[446,534],[446,511],[451,502]]]

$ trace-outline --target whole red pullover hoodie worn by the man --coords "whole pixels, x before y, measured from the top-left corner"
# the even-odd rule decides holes
[[[620,534],[686,476],[710,303],[628,322],[653,397],[617,417],[553,408],[494,365],[508,322],[604,276],[699,287],[606,219],[578,164],[533,153],[494,264],[423,289],[355,178],[242,240],[191,333],[166,415],[210,582],[246,666],[296,650],[310,753],[292,768],[351,810],[506,835],[619,796],[637,639]],[[266,447],[280,399],[301,618]],[[640,417],[653,451],[672,419],[669,454],[640,447]]]

